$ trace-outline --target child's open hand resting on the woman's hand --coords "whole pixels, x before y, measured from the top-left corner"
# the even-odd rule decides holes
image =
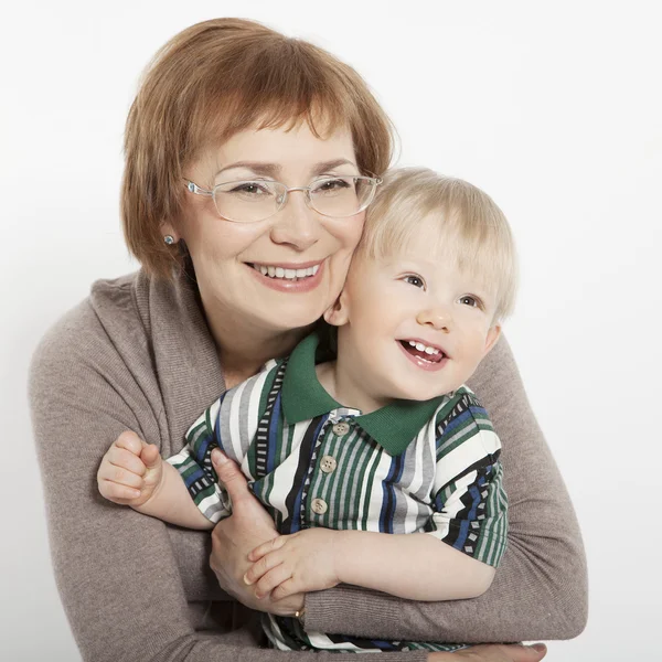
[[[306,528],[259,545],[248,554],[248,560],[254,563],[244,581],[255,584],[257,598],[271,594],[271,600],[337,586],[340,584],[334,552],[338,533],[330,528]]]

